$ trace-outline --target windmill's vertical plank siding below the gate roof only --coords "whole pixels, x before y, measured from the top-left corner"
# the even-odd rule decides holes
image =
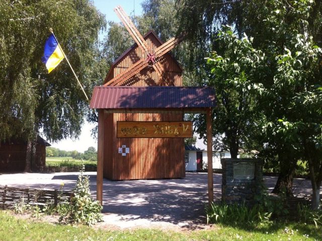
[[[113,124],[105,126],[104,176],[113,180],[185,177],[184,140],[182,138],[116,138],[117,121],[125,121],[124,113],[113,115]],[[128,113],[128,121],[182,121],[182,114]],[[107,119],[110,117],[108,116]],[[107,122],[105,122],[107,123]],[[108,121],[111,124],[110,121]],[[112,134],[111,134],[112,133]],[[113,142],[114,140],[114,142]],[[118,153],[126,145],[130,153]]]

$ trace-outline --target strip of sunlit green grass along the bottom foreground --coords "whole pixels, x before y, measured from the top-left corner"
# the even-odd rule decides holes
[[[207,230],[96,230],[87,226],[49,224],[15,218],[0,211],[0,240],[322,240],[320,228],[304,223],[275,223],[254,229],[214,225]],[[293,230],[293,232],[292,232]],[[292,234],[293,233],[293,234]],[[304,235],[308,235],[308,237]]]

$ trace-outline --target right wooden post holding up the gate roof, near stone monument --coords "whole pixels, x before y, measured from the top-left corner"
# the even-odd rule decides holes
[[[212,119],[211,108],[207,108],[207,159],[208,159],[208,201],[213,202],[213,174],[212,174]]]

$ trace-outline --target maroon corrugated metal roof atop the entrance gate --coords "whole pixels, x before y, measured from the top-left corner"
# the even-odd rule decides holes
[[[215,106],[210,87],[94,87],[90,107],[96,109],[206,108]]]

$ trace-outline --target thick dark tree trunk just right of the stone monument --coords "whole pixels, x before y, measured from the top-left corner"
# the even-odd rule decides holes
[[[293,196],[292,187],[294,171],[296,168],[296,160],[289,160],[288,158],[286,158],[279,157],[281,171],[272,193],[281,194],[285,192],[286,196]]]

